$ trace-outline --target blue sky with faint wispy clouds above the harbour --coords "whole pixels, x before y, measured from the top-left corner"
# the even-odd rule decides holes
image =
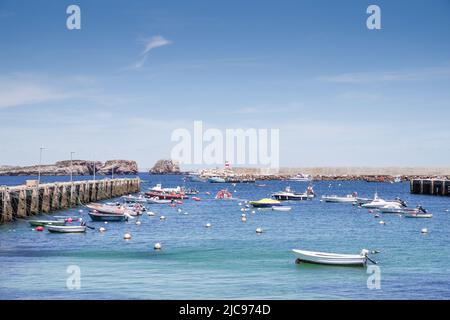
[[[202,120],[279,128],[282,166],[444,166],[449,88],[448,0],[0,0],[0,164],[144,169]]]

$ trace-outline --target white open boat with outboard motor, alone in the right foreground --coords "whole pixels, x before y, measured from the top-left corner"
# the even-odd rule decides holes
[[[292,250],[297,257],[296,262],[307,262],[337,266],[365,266],[369,251],[361,250],[359,254],[338,254],[306,250]]]

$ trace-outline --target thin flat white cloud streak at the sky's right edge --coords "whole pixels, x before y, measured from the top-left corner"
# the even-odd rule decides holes
[[[320,76],[318,77],[318,80],[335,83],[370,83],[392,81],[428,81],[443,78],[450,78],[449,66],[412,70],[341,73]]]

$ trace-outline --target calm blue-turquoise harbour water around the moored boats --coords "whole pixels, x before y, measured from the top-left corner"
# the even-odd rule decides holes
[[[89,177],[85,177],[86,179]],[[0,185],[27,177],[0,177]],[[76,179],[81,179],[76,177]],[[142,174],[142,191],[162,183],[183,185],[181,176]],[[43,177],[44,181],[68,180]],[[304,182],[257,184],[187,183],[201,191],[201,202],[186,200],[178,210],[148,205],[154,217],[141,225],[90,222],[79,209],[58,215],[81,215],[94,227],[86,234],[32,231],[25,221],[0,226],[0,299],[450,299],[450,198],[411,195],[409,183],[314,182],[318,197],[295,202],[290,212],[248,212],[241,222],[239,201],[214,200],[228,188],[233,196],[255,200],[288,184],[304,191]],[[205,192],[210,191],[211,195]],[[324,194],[401,197],[422,204],[432,219],[380,219],[348,204],[320,202]],[[188,212],[188,215],[183,214]],[[159,216],[166,216],[160,221]],[[205,228],[205,224],[212,224]],[[264,233],[257,235],[255,229]],[[421,234],[428,228],[428,234]],[[129,232],[132,239],[123,240]],[[163,250],[153,250],[160,242]],[[367,288],[365,268],[297,265],[293,248],[339,253],[377,249],[381,289]],[[81,288],[69,290],[66,272],[81,269]]]

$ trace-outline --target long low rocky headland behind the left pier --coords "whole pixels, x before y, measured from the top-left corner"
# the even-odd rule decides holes
[[[102,162],[95,162],[95,173],[98,175],[109,175],[114,168],[114,174],[137,174],[138,166],[135,161],[129,160],[109,160],[104,164]],[[40,166],[41,175],[55,175],[65,176],[70,175],[72,170],[73,175],[93,175],[94,174],[94,162],[86,160],[73,160],[72,168],[70,160],[58,161],[52,165]],[[39,172],[39,166],[0,166],[1,176],[29,176],[37,175]]]

